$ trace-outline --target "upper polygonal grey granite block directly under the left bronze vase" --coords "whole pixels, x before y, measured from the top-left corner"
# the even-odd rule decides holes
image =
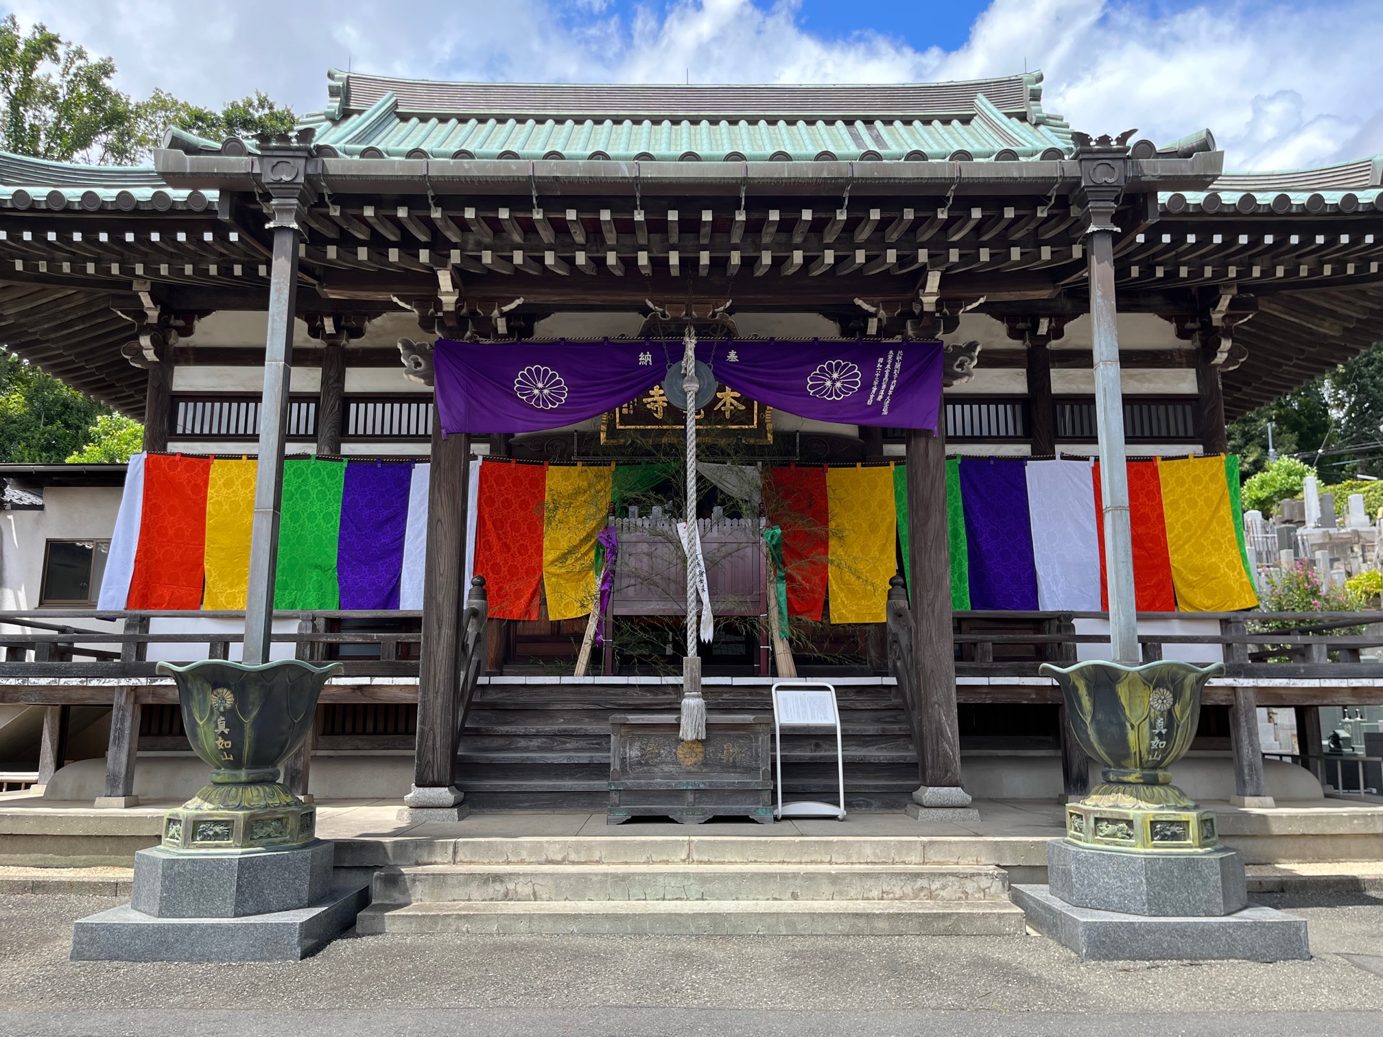
[[[239,918],[315,904],[332,885],[335,846],[284,850],[169,850],[134,854],[130,906],[156,918]]]

